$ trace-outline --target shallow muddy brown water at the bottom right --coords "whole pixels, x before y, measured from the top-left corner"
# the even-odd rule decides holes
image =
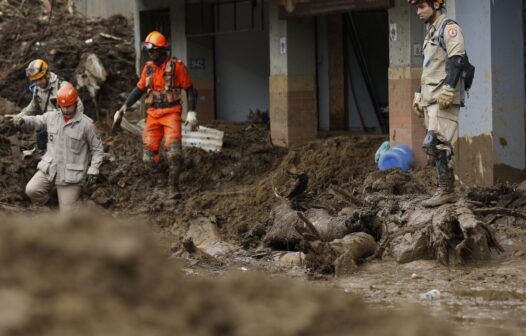
[[[420,304],[459,327],[513,327],[526,334],[526,259],[446,268],[433,261],[376,262],[335,286],[378,309]],[[436,289],[439,295],[426,295]],[[434,298],[430,298],[434,296]]]

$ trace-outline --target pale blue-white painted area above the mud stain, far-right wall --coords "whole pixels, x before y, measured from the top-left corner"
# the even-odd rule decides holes
[[[476,67],[470,98],[460,112],[460,136],[491,134],[500,161],[524,168],[522,4],[457,1],[456,17]]]

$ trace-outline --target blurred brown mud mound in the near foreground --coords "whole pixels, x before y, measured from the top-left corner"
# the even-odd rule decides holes
[[[149,231],[96,213],[2,216],[0,335],[495,334],[290,279],[184,276]]]

